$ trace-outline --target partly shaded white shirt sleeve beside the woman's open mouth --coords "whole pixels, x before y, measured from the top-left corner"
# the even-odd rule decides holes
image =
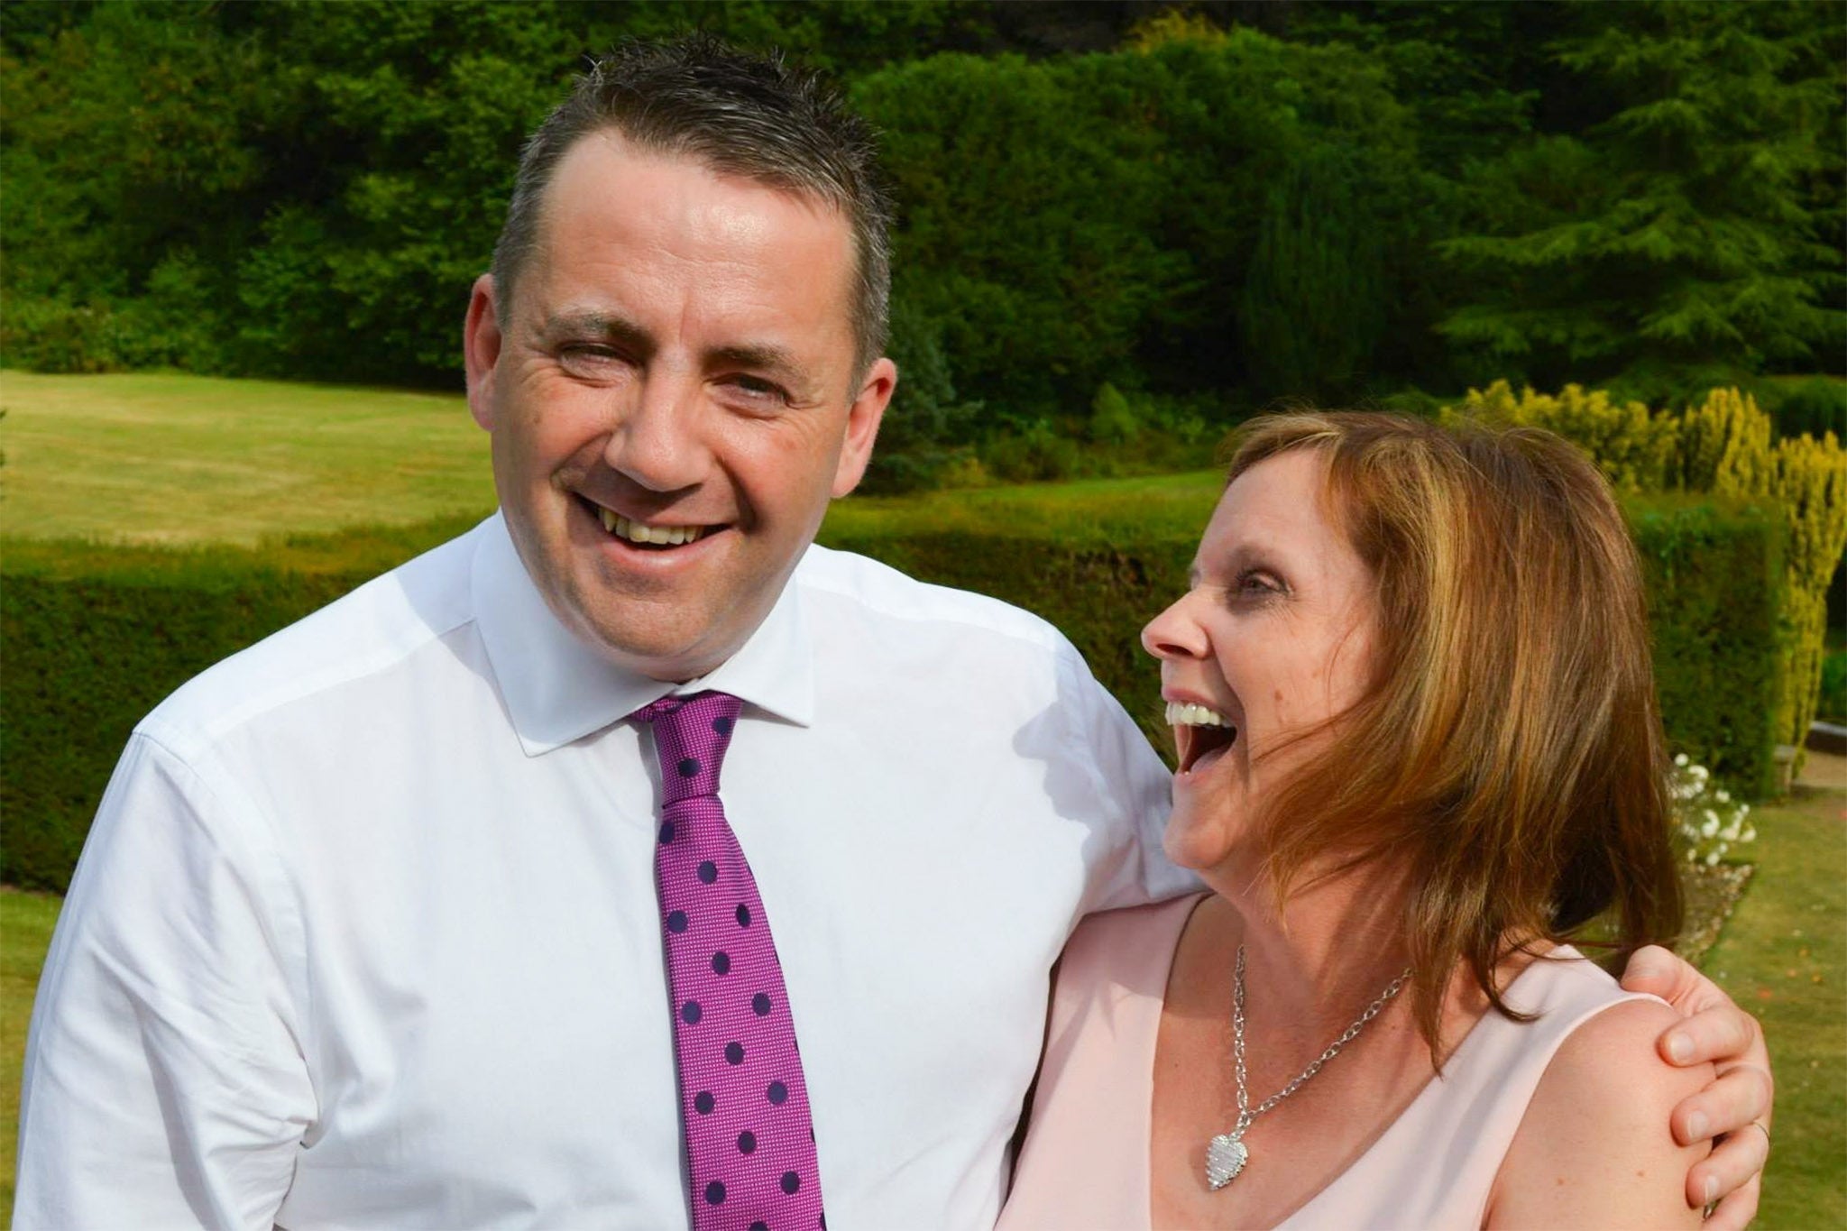
[[[1162,851],[1173,775],[1073,646],[1060,655],[1058,694],[1069,718],[1071,771],[1082,775],[1093,799],[1095,840],[1080,914],[1197,891],[1199,877],[1175,867]]]

